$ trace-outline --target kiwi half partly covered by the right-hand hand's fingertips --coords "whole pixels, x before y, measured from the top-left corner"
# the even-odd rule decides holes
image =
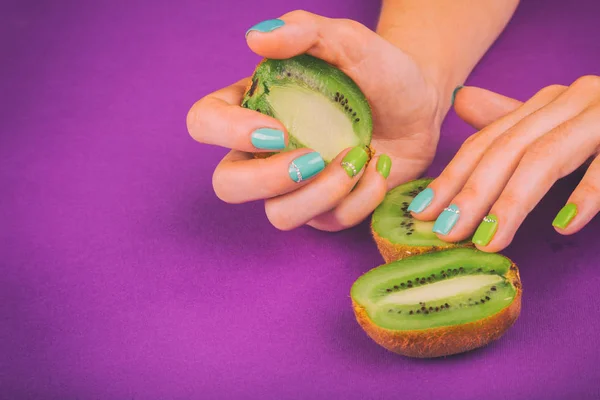
[[[470,240],[444,242],[433,233],[434,221],[419,221],[408,211],[408,205],[433,178],[405,183],[390,190],[373,212],[371,233],[385,262],[449,249],[473,247]]]

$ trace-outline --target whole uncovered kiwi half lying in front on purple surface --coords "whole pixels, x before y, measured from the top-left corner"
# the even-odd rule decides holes
[[[351,289],[366,333],[390,351],[417,358],[462,353],[500,338],[519,316],[521,294],[511,260],[472,248],[377,267]]]

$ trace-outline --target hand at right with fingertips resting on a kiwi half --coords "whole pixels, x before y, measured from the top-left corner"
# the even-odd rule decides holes
[[[481,92],[458,92],[455,109],[465,120],[477,115]],[[600,77],[548,86],[469,137],[409,210],[417,219],[435,220],[442,240],[475,232],[480,250],[500,251],[550,187],[593,157],[552,223],[558,233],[573,234],[600,210],[599,149]]]

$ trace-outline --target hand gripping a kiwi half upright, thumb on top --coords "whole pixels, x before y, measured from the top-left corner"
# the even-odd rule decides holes
[[[377,153],[389,155],[394,168],[387,177],[385,159],[376,156],[357,176],[349,177],[340,164],[350,149],[324,169],[319,155],[310,149],[254,159],[252,152],[273,151],[273,146],[256,147],[257,130],[283,132],[267,131],[266,137],[279,146],[287,143],[287,133],[279,121],[240,107],[245,79],[199,100],[187,117],[188,130],[197,141],[232,149],[214,172],[219,198],[230,203],[264,199],[269,220],[282,230],[309,224],[335,231],[360,223],[379,205],[388,187],[418,177],[429,166],[450,96],[444,93],[441,101],[442,95],[421,66],[390,42],[357,22],[304,11],[255,26],[247,41],[261,56],[284,59],[308,53],[350,76],[372,107],[372,146]],[[292,161],[308,165],[310,171],[303,173],[301,183],[288,173]]]

